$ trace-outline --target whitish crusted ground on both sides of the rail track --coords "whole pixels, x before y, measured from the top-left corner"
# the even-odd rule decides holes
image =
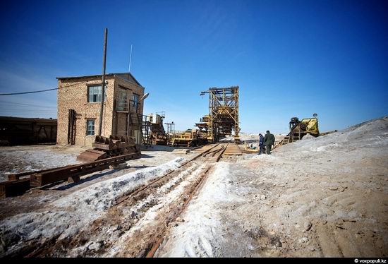
[[[135,172],[104,178],[41,210],[5,218],[0,256],[87,228],[117,198],[175,169],[183,159],[161,164],[176,157],[169,150],[174,149],[144,151],[142,159],[127,162]],[[199,170],[190,173],[193,177]],[[169,185],[150,198],[160,204],[176,199],[180,189],[163,200],[165,188]],[[152,223],[159,209],[158,203],[145,212],[140,226]],[[388,256],[387,211],[388,116],[281,146],[272,155],[244,154],[215,164],[181,215],[184,222],[172,227],[157,256]],[[125,239],[117,241],[112,255]]]

